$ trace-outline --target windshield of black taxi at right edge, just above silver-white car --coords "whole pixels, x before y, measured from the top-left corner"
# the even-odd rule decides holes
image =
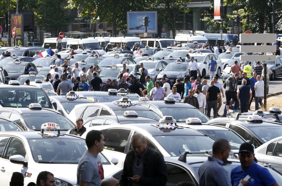
[[[282,136],[282,128],[280,125],[277,126],[253,126],[249,127],[259,139],[266,143],[269,140]]]

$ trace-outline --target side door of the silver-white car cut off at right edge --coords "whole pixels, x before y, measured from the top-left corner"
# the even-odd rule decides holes
[[[274,141],[267,146],[263,163],[269,163],[271,167],[282,171],[282,140]]]

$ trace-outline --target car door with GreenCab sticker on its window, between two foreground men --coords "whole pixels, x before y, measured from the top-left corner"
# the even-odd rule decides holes
[[[129,137],[132,130],[127,128],[110,128],[104,135],[104,155],[107,157],[115,157],[119,160],[118,167],[122,168],[126,156],[126,148],[129,143]]]

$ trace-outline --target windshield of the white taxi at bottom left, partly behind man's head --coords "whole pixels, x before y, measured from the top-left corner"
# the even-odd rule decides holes
[[[78,164],[87,150],[85,140],[66,138],[28,139],[32,157],[37,163]],[[103,165],[110,162],[99,153]]]

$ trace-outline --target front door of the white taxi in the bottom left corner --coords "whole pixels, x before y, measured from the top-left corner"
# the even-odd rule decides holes
[[[24,157],[25,161],[28,161],[26,148],[23,141],[21,141],[19,138],[11,139],[11,143],[9,143],[3,158],[1,158],[2,163],[0,168],[1,173],[4,173],[2,176],[3,179],[1,179],[1,185],[9,185],[11,176],[14,172],[19,172],[23,175],[27,172],[28,168],[26,166],[10,162],[9,158],[13,155],[21,155]]]

